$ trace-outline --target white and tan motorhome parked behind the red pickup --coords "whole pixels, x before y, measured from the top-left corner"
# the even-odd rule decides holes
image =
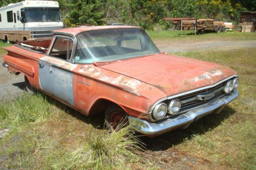
[[[58,2],[25,0],[0,8],[0,39],[6,42],[52,37],[62,28]]]

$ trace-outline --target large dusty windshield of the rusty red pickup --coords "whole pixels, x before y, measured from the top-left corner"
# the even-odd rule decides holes
[[[83,32],[77,36],[74,61],[89,64],[159,53],[142,29],[108,29]]]

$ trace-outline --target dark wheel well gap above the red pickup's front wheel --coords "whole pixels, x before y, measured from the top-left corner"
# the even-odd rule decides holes
[[[91,107],[91,109],[89,111],[89,115],[104,113],[109,106],[113,106],[113,105],[120,107],[118,104],[116,104],[112,101],[109,101],[106,99],[99,99]],[[120,108],[123,110],[122,107],[120,107]]]

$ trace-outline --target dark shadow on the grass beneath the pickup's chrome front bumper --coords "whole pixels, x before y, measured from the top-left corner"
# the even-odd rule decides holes
[[[191,139],[194,135],[204,134],[218,127],[223,120],[234,114],[236,111],[226,106],[219,114],[209,114],[198,121],[192,123],[187,129],[178,129],[164,133],[155,138],[140,137],[145,144],[145,148],[150,151],[163,151],[172,148],[173,145],[180,144]]]

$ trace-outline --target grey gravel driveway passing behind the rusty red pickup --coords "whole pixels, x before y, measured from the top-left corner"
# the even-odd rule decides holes
[[[243,41],[156,41],[157,47],[161,52],[177,53],[187,51],[198,51],[198,50],[226,50],[226,49],[238,49],[244,47],[256,47],[256,40],[243,40]],[[0,54],[0,63],[3,63],[3,54]],[[24,76],[23,75],[12,75],[9,74],[7,68],[0,67],[0,101],[15,99],[17,95],[23,94],[24,92]]]

